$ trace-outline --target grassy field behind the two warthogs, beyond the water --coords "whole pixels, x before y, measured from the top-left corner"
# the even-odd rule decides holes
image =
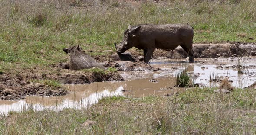
[[[189,23],[194,42],[255,42],[255,0],[0,0],[0,70],[67,61],[80,45],[104,55],[128,25]],[[10,63],[12,62],[12,63]]]

